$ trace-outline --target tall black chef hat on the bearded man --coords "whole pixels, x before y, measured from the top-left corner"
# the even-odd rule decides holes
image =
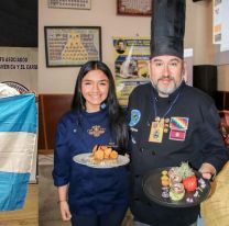
[[[151,58],[162,55],[183,59],[185,0],[152,0]]]

